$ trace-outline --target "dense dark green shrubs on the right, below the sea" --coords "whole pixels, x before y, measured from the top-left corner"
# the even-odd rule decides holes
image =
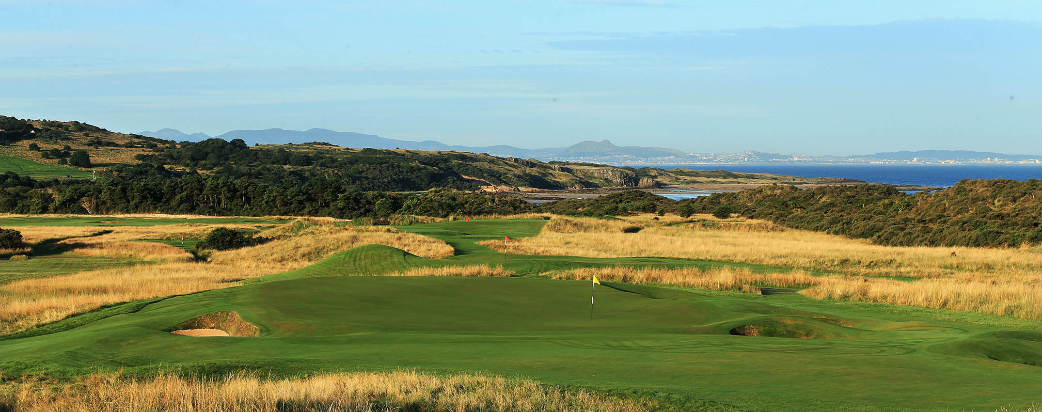
[[[1017,246],[1042,242],[1042,180],[962,180],[935,193],[883,185],[800,190],[765,186],[684,200],[696,212],[742,216],[885,245]]]

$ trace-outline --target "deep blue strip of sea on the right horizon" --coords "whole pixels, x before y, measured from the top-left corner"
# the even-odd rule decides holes
[[[654,165],[803,177],[846,177],[888,185],[949,187],[964,178],[1042,179],[1042,165]]]

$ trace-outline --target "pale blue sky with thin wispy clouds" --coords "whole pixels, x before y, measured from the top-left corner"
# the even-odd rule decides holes
[[[0,0],[0,114],[114,131],[1042,154],[1042,2]]]

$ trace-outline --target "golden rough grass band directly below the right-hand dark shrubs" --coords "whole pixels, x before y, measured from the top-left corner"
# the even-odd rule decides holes
[[[746,219],[730,219],[716,226],[704,222],[650,226],[639,233],[619,235],[617,231],[625,224],[556,217],[539,236],[508,242],[505,249],[522,255],[709,259],[844,274],[1042,280],[1042,247],[1038,246],[1007,249],[880,246]]]

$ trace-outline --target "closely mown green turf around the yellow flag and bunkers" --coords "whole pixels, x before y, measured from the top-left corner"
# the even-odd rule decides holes
[[[960,411],[1042,401],[1038,322],[979,315],[973,323],[944,320],[950,317],[942,311],[792,293],[607,283],[597,288],[591,319],[589,282],[364,276],[436,265],[501,264],[535,273],[591,265],[722,264],[504,256],[472,244],[535,235],[541,224],[402,227],[448,241],[457,256],[426,260],[387,246],[362,246],[247,286],[80,315],[65,321],[78,325],[74,329],[61,331],[58,322],[48,331],[60,332],[0,340],[0,369],[57,375],[99,367],[199,373],[249,368],[276,375],[400,367],[487,370],[620,394],[659,393],[656,398],[672,398],[678,410]],[[238,312],[260,328],[260,336],[167,333],[221,311]],[[750,331],[791,337],[731,335]]]

